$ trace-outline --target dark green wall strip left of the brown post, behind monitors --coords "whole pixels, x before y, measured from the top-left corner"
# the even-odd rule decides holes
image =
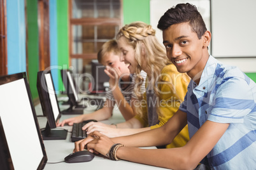
[[[32,98],[38,97],[38,89],[36,88],[36,78],[39,70],[38,41],[38,2],[27,0],[27,75]]]

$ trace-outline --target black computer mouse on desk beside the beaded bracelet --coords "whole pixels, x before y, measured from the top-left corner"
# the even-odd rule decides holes
[[[89,152],[88,150],[83,150],[80,152],[75,152],[73,154],[69,154],[65,157],[65,162],[67,163],[77,163],[77,162],[89,162],[94,159],[94,154]]]

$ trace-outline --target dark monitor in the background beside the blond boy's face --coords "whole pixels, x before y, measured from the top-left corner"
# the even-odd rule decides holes
[[[91,82],[92,89],[90,94],[100,94],[106,92],[105,82],[110,81],[110,77],[104,72],[104,65],[101,65],[97,60],[92,60],[92,77],[94,82]]]

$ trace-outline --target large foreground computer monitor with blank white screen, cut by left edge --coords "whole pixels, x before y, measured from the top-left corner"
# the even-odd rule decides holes
[[[14,169],[43,169],[45,146],[25,72],[0,77],[0,94],[4,140]]]

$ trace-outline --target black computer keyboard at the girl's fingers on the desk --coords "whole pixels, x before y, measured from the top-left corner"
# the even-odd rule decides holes
[[[72,132],[71,132],[71,141],[78,141],[86,138],[87,137],[86,131],[83,131],[82,127],[85,126],[85,124],[92,121],[97,122],[96,120],[91,119],[91,120],[83,121],[81,123],[74,123]]]

